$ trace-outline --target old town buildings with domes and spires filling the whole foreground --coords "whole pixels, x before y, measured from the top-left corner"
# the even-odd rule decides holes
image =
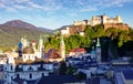
[[[75,75],[80,72],[84,73],[86,75],[86,80],[82,81],[83,84],[133,83],[133,69],[129,59],[124,57],[102,62],[101,59],[103,55],[101,55],[101,43],[99,38],[96,40],[95,46],[92,46],[90,53],[86,52],[84,49],[73,49],[70,51],[70,56],[66,57],[65,43],[62,36],[60,42],[60,60],[51,60],[48,57],[45,59],[45,55],[43,54],[44,50],[42,50],[44,46],[42,39],[39,40],[38,49],[34,48],[34,45],[37,44],[33,43],[34,41],[32,43],[29,43],[27,39],[23,38],[21,39],[21,42],[18,45],[18,56],[17,53],[14,53],[14,51],[10,54],[0,54],[2,55],[2,57],[0,57],[0,71],[2,71],[0,72],[0,76],[3,80],[2,82],[0,81],[0,83],[41,84],[45,78],[50,78],[51,74],[54,74],[54,71],[59,70],[60,61],[64,61],[66,66],[71,64],[72,67],[76,69],[76,71],[72,75]],[[59,80],[57,78],[57,81]],[[79,81],[75,82],[79,83]]]

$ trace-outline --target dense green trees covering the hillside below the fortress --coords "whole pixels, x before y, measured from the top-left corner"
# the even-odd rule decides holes
[[[126,45],[129,41],[131,42],[131,44],[133,44],[133,29],[120,30],[116,28],[109,28],[104,30],[104,27],[102,24],[99,24],[95,27],[86,25],[84,32],[84,36],[79,35],[78,33],[70,36],[64,36],[66,53],[71,49],[75,48],[85,48],[86,50],[89,50],[92,46],[95,46],[96,38],[100,38],[103,60],[106,60],[108,55],[115,59],[119,55],[126,55],[126,53],[129,53],[124,50],[129,49]],[[59,50],[59,45],[60,35],[50,36],[48,42],[45,42],[45,52],[49,49]],[[124,54],[121,53],[123,51]]]

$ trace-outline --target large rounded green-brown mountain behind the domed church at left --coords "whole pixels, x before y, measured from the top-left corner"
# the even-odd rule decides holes
[[[0,49],[17,46],[20,39],[24,35],[29,41],[37,40],[38,43],[40,35],[45,41],[50,34],[44,29],[42,30],[21,20],[8,21],[0,24]]]

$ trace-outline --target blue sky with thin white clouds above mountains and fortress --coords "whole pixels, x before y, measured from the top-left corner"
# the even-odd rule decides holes
[[[103,13],[119,14],[124,23],[133,27],[133,0],[0,0],[0,24],[22,20],[58,29]]]

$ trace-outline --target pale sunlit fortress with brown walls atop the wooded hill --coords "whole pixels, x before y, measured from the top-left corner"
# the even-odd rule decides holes
[[[63,35],[70,35],[73,33],[80,33],[81,35],[83,35],[83,31],[86,25],[94,27],[96,24],[103,24],[104,30],[110,28],[129,30],[129,25],[126,23],[123,23],[121,15],[116,15],[115,18],[110,18],[106,14],[102,14],[102,15],[93,15],[91,20],[74,21],[72,25],[62,29],[61,33]]]

